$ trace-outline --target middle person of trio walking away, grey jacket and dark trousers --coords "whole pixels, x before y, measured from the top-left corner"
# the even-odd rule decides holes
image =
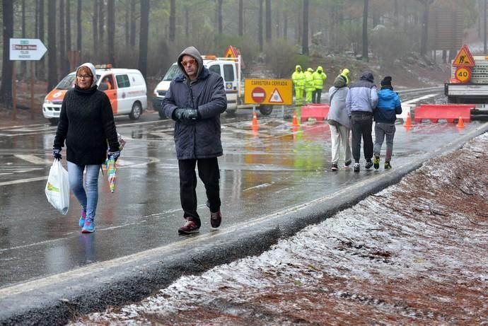
[[[378,91],[373,83],[373,74],[364,71],[359,81],[349,86],[346,98],[347,114],[352,122],[352,157],[354,158],[354,172],[359,172],[359,158],[361,155],[361,137],[363,152],[366,159],[366,169],[373,166],[373,110],[378,103]]]

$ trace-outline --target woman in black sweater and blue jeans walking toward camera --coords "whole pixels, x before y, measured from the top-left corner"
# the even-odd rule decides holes
[[[108,96],[97,89],[96,81],[93,64],[82,64],[76,69],[74,88],[64,95],[52,146],[54,158],[61,159],[66,141],[69,188],[82,207],[79,226],[83,233],[95,230],[100,168],[107,156],[115,160],[120,156],[112,106]],[[86,190],[83,171],[86,171]]]

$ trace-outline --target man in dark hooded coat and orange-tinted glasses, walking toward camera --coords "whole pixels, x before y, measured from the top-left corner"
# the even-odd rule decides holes
[[[175,120],[175,148],[180,170],[180,201],[185,225],[179,233],[197,233],[202,225],[197,213],[197,174],[204,182],[210,223],[220,226],[219,161],[222,156],[220,115],[227,108],[223,79],[204,67],[195,47],[178,57],[182,71],[171,81],[163,100],[163,111]]]

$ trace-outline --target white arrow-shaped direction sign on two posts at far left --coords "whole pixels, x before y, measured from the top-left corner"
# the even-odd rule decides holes
[[[47,49],[42,41],[37,38],[11,38],[10,39],[10,60],[12,61],[12,115],[16,120],[17,98],[16,98],[16,60],[35,61],[40,60]],[[30,69],[30,116],[34,116],[34,77],[33,64]]]

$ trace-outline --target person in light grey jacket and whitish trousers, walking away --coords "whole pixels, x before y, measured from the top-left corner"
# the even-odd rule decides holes
[[[332,171],[339,170],[339,152],[342,147],[344,151],[344,165],[349,166],[351,160],[351,147],[349,146],[349,134],[351,131],[351,120],[347,115],[346,98],[349,93],[346,78],[339,75],[335,78],[334,84],[329,88],[329,113],[327,122],[330,127],[330,139],[332,142]]]

